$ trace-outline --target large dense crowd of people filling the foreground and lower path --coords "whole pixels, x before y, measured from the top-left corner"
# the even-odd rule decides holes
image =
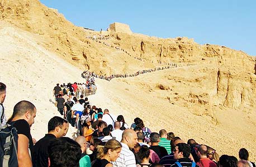
[[[217,150],[187,142],[161,129],[150,130],[136,117],[128,125],[123,115],[92,105],[82,95],[64,102],[64,117],[54,116],[48,122],[48,134],[39,141],[32,138],[36,107],[20,101],[6,120],[3,102],[6,85],[0,82],[0,158],[1,166],[164,166],[164,167],[255,167],[245,148],[233,155],[217,154]],[[69,125],[77,129],[75,139],[64,137]]]

